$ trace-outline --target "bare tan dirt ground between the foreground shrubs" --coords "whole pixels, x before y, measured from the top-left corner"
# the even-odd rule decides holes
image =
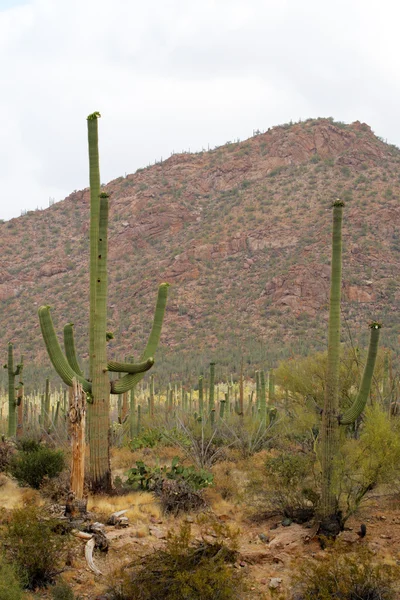
[[[0,488],[0,506],[12,508],[32,497],[31,490],[17,488],[8,481]],[[10,500],[10,497],[12,500]],[[5,499],[8,501],[5,502]],[[38,501],[40,497],[38,496]],[[75,594],[88,600],[104,600],[107,584],[112,580],[112,572],[143,552],[151,552],[165,543],[169,530],[177,531],[182,519],[192,523],[194,536],[197,533],[196,516],[165,517],[161,514],[157,502],[151,494],[132,493],[116,498],[91,498],[89,508],[104,522],[113,511],[128,509],[129,526],[116,528],[106,526],[109,540],[107,554],[94,553],[94,563],[102,572],[95,575],[88,567],[84,556],[85,541],[74,539],[70,564],[65,566],[63,578],[69,582]],[[304,557],[321,555],[315,528],[310,525],[282,525],[280,517],[270,518],[262,523],[247,521],[237,507],[228,503],[214,509],[221,521],[240,529],[240,556],[236,568],[243,569],[248,582],[245,598],[260,600],[291,597],[291,576]],[[366,536],[357,535],[360,524],[367,527]],[[400,500],[393,496],[374,496],[362,509],[346,523],[346,530],[340,534],[349,546],[367,544],[380,561],[400,564]],[[49,590],[36,594],[27,594],[27,598],[51,598]]]

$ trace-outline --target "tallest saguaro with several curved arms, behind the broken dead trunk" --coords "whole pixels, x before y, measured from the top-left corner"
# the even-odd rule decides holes
[[[89,376],[86,378],[77,359],[73,325],[64,328],[65,355],[58,342],[50,307],[39,309],[40,326],[50,360],[62,380],[69,386],[74,378],[82,385],[88,400],[88,432],[90,447],[90,478],[94,491],[111,487],[109,449],[109,403],[111,394],[123,394],[142,379],[154,364],[153,355],[158,346],[167,302],[168,284],[158,290],[153,327],[142,354],[141,362],[107,360],[107,229],[108,195],[100,192],[98,152],[98,118],[95,112],[88,116],[89,175],[90,175],[90,312],[89,312]],[[123,374],[111,380],[108,372]]]

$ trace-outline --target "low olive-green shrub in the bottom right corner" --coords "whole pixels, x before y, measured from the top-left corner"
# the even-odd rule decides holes
[[[367,546],[353,551],[336,542],[318,559],[308,559],[293,578],[296,600],[391,600],[399,568],[377,563]]]

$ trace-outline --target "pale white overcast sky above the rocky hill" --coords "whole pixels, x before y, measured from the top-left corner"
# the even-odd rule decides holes
[[[299,118],[400,146],[396,0],[0,0],[0,218]]]

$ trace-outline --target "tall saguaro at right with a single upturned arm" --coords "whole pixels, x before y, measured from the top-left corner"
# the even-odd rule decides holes
[[[337,482],[335,459],[339,449],[339,427],[340,425],[349,425],[353,423],[365,408],[371,388],[381,328],[380,323],[373,322],[370,324],[371,335],[368,356],[359,392],[353,402],[353,405],[342,415],[339,411],[339,358],[343,206],[343,202],[340,201],[335,202],[333,205],[331,290],[328,325],[328,363],[321,430],[322,532],[324,531],[324,523],[327,524],[327,529],[332,531],[332,524],[329,525],[329,522],[338,522],[338,507],[336,506]]]

